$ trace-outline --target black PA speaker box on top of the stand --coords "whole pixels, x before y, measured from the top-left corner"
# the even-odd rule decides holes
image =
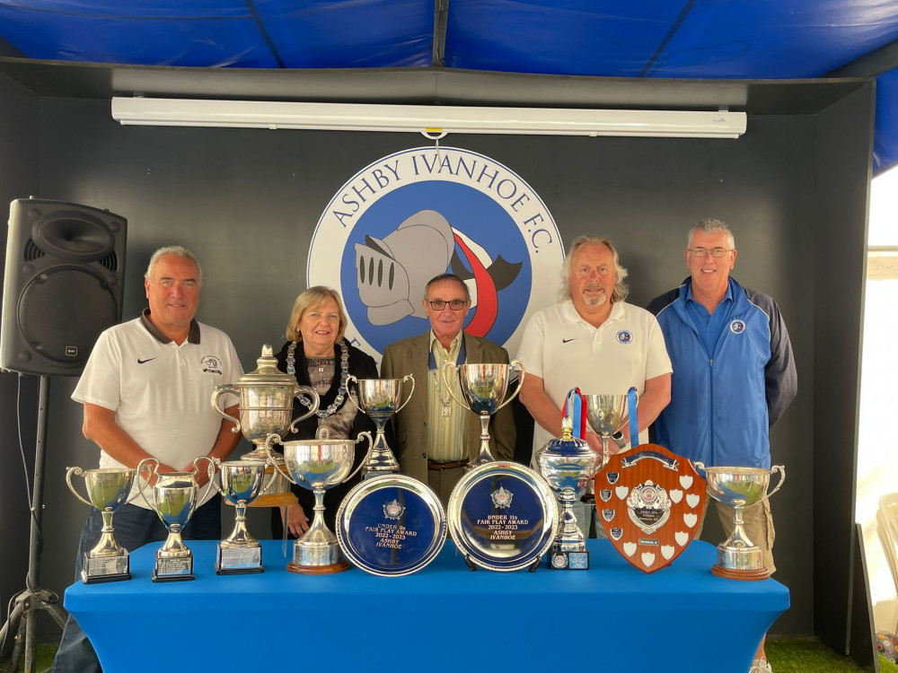
[[[0,367],[77,376],[121,321],[124,217],[89,205],[13,201],[6,240]]]

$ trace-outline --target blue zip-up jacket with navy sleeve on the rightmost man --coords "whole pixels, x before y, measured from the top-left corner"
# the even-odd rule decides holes
[[[795,358],[773,298],[729,283],[733,303],[710,357],[686,309],[691,278],[648,305],[674,366],[656,442],[707,466],[770,468],[770,426],[797,392]]]

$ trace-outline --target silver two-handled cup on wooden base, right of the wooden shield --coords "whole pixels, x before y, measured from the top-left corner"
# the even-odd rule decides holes
[[[762,550],[745,535],[742,511],[744,508],[767,500],[786,481],[786,470],[781,465],[773,468],[706,468],[695,462],[696,469],[705,471],[708,492],[715,500],[733,508],[733,533],[718,545],[718,563],[711,572],[730,580],[766,580],[770,570],[764,567]],[[779,484],[770,493],[770,475],[779,472]]]

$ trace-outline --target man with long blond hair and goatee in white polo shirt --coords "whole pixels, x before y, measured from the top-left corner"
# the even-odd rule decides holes
[[[640,438],[671,398],[671,361],[655,316],[624,302],[627,269],[611,240],[579,236],[561,272],[560,303],[533,314],[524,328],[518,357],[527,376],[521,400],[536,421],[533,450],[561,435],[561,408],[568,390],[587,395],[639,394]],[[612,452],[629,442],[624,424]],[[602,451],[591,430],[585,441]],[[584,522],[585,523],[585,522]],[[601,535],[601,527],[596,527]]]

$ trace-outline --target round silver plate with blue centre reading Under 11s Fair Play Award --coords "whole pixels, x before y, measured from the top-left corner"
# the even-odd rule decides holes
[[[559,504],[538,472],[496,460],[462,476],[447,516],[453,542],[471,570],[535,571],[555,539]]]

